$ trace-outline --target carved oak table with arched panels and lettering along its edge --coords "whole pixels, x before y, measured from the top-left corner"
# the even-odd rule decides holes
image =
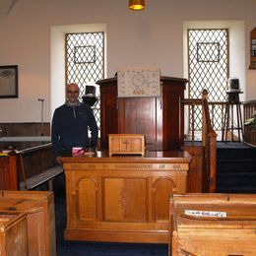
[[[102,151],[61,161],[67,195],[65,239],[168,243],[169,197],[186,191],[188,153],[109,157]]]

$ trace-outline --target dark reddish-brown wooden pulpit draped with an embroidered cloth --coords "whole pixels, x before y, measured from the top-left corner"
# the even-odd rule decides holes
[[[111,133],[144,134],[149,151],[178,150],[183,145],[184,114],[180,101],[187,80],[161,77],[162,96],[119,97],[117,78],[97,81],[100,87],[100,146]]]

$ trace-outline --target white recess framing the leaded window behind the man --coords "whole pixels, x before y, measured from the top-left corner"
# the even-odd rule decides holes
[[[50,29],[50,113],[65,102],[65,34],[73,32],[104,32],[105,24],[53,26]],[[106,36],[104,36],[104,50]],[[104,53],[104,55],[106,55]],[[106,58],[104,67],[106,69]],[[106,71],[106,70],[105,70]],[[104,74],[106,72],[104,71]]]

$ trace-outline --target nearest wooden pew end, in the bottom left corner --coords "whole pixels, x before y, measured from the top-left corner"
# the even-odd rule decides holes
[[[0,211],[0,255],[28,255],[25,213]]]

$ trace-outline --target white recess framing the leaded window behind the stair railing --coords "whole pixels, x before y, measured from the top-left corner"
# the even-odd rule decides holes
[[[238,78],[241,91],[240,100],[246,98],[246,55],[244,21],[185,21],[183,22],[183,75],[188,77],[187,30],[189,29],[228,29],[229,33],[229,77]],[[188,97],[188,91],[185,92]],[[185,131],[187,130],[185,118]]]

